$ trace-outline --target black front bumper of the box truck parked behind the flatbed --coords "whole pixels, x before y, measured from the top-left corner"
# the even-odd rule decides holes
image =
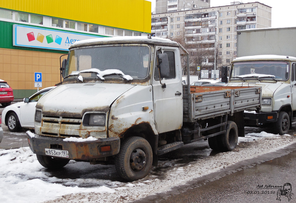
[[[244,112],[244,125],[253,126],[261,125],[266,123],[272,123],[277,121],[277,112],[260,112],[260,113],[249,113]]]

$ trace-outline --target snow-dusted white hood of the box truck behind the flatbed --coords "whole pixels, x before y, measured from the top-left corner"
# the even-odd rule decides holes
[[[226,86],[261,86],[262,87],[262,97],[272,97],[276,89],[278,89],[283,84],[278,83],[266,83],[266,82],[230,82]]]

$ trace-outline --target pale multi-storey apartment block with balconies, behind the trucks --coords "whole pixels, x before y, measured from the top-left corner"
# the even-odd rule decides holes
[[[151,35],[185,42],[190,53],[190,73],[202,78],[214,78],[214,73],[218,78],[219,67],[229,65],[236,57],[240,30],[267,27],[271,27],[271,7],[259,2],[232,2],[151,17]]]

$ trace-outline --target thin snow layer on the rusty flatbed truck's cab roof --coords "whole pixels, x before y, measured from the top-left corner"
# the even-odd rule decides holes
[[[143,44],[156,44],[156,45],[170,45],[179,46],[177,42],[161,37],[148,37],[144,36],[124,36],[124,37],[102,37],[89,40],[81,40],[74,42],[71,48],[81,46],[103,45],[103,44],[124,44],[124,43],[143,43]]]

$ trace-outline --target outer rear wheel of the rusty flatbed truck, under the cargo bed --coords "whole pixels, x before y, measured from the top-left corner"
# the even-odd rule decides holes
[[[237,146],[238,140],[238,129],[237,124],[233,121],[227,121],[229,128],[226,133],[221,136],[221,151],[227,152],[231,151]]]

